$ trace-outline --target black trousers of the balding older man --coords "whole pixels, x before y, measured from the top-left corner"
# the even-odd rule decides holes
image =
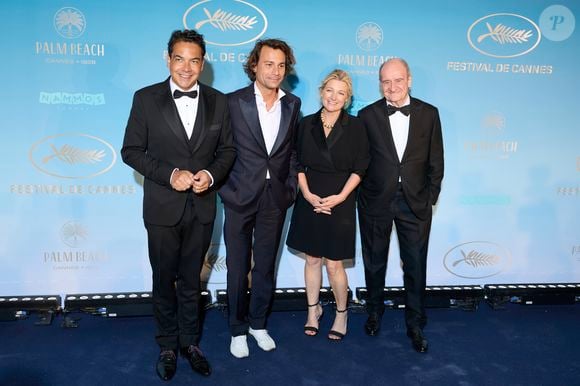
[[[395,224],[405,286],[405,323],[407,328],[423,328],[427,249],[431,230],[431,215],[421,220],[411,210],[402,189],[398,189],[384,216],[359,210],[361,244],[365,266],[369,313],[384,312],[383,290],[393,223]]]

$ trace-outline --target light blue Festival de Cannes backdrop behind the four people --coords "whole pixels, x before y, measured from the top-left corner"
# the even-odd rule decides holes
[[[445,145],[428,283],[580,280],[577,1],[29,0],[0,15],[0,294],[150,290],[143,179],[119,151],[182,28],[204,34],[202,81],[223,92],[248,84],[256,39],[287,40],[304,115],[332,69],[352,75],[356,114],[381,98],[379,65],[407,59]],[[210,290],[225,288],[222,225],[219,206]],[[303,264],[282,247],[277,286],[303,286]],[[360,249],[347,272],[364,286]],[[402,285],[396,241],[387,283]]]

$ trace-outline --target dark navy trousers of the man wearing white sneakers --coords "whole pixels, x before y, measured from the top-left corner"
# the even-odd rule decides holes
[[[276,205],[268,182],[257,212],[240,213],[225,207],[224,241],[232,336],[246,334],[248,327],[255,330],[266,328],[267,314],[274,296],[276,256],[285,212]],[[248,296],[250,271],[251,295]]]

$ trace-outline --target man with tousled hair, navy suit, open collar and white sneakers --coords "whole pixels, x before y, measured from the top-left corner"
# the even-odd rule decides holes
[[[249,355],[248,333],[264,351],[276,348],[266,319],[286,210],[296,197],[295,131],[301,104],[280,84],[294,63],[284,41],[260,40],[244,65],[252,83],[228,95],[237,158],[219,193],[225,210],[230,352],[236,358]]]

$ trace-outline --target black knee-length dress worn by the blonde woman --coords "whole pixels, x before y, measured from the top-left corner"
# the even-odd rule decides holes
[[[324,136],[321,111],[300,121],[297,138],[299,172],[306,175],[310,191],[320,197],[341,192],[352,173],[361,178],[369,163],[366,130],[357,117],[342,112],[328,137]],[[286,244],[311,256],[330,260],[355,255],[356,189],[332,209],[319,214],[298,194]]]

